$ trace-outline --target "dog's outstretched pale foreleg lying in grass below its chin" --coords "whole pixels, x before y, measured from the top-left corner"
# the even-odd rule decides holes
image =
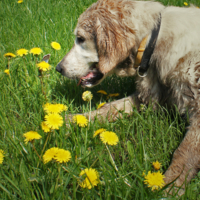
[[[100,121],[108,119],[109,121],[115,121],[122,116],[122,112],[131,114],[133,112],[133,106],[139,108],[140,101],[137,94],[133,94],[117,101],[112,101],[103,105],[100,109],[94,110],[91,113],[83,113],[86,117],[94,120],[98,118]],[[66,116],[66,120],[72,120],[74,114]]]

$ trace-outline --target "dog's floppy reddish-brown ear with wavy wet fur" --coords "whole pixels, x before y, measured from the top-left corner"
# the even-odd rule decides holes
[[[99,70],[106,74],[130,54],[124,27],[113,16],[104,15],[96,21],[96,43]]]

